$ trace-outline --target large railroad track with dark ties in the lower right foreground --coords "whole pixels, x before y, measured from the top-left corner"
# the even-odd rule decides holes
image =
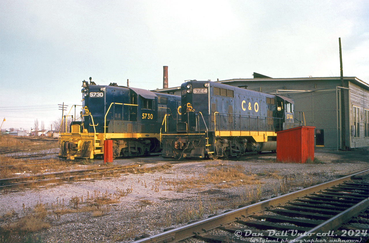
[[[366,242],[369,184],[360,175],[368,172],[211,215],[157,235],[143,235],[134,243],[190,237],[197,238],[196,242],[338,242],[337,238]]]

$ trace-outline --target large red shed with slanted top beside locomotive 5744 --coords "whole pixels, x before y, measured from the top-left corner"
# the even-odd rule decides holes
[[[277,132],[277,161],[306,163],[314,160],[314,128],[295,127]]]

